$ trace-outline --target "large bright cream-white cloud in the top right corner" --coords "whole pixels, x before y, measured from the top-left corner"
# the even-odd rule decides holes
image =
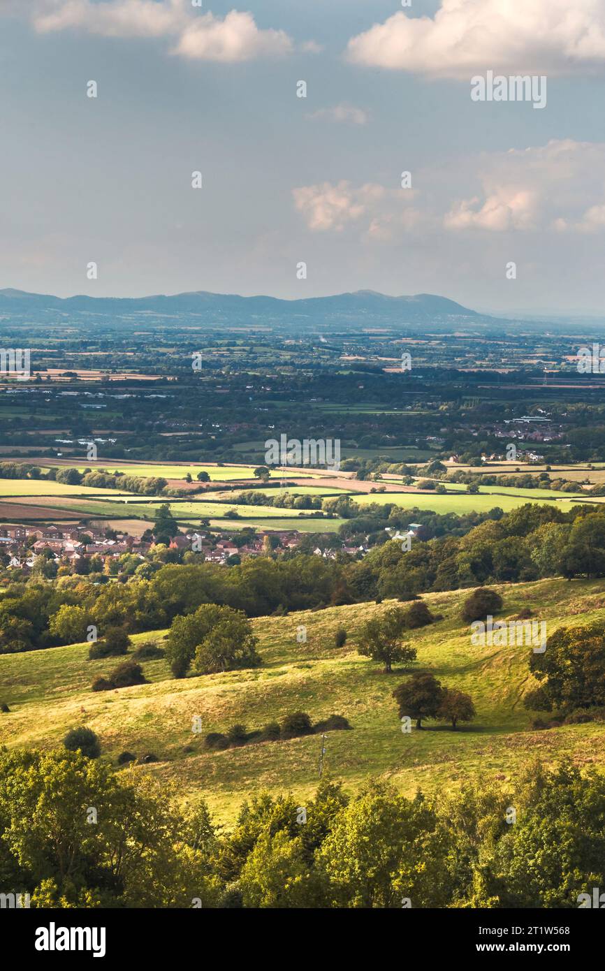
[[[357,64],[467,80],[487,69],[568,74],[605,67],[605,0],[442,0],[353,37]]]

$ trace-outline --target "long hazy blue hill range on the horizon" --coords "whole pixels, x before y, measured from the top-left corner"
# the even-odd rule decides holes
[[[148,297],[55,297],[46,293],[27,293],[23,290],[0,290],[0,314],[33,316],[92,314],[99,317],[128,318],[130,315],[156,315],[161,318],[200,318],[200,322],[217,323],[291,323],[357,324],[372,326],[447,324],[449,328],[461,324],[495,323],[489,318],[468,310],[447,297],[431,293],[416,296],[390,297],[373,290],[339,293],[328,297],[309,297],[302,300],[279,300],[276,297],[242,297],[231,293],[208,293],[197,290],[158,294]],[[140,319],[140,318],[139,318]]]

